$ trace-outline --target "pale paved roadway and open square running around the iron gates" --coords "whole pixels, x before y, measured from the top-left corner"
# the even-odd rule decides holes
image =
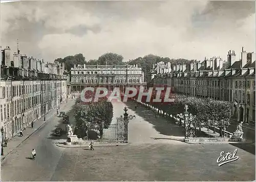
[[[114,118],[125,104],[113,102]],[[2,180],[254,180],[255,147],[252,145],[195,145],[179,141],[182,129],[144,107],[126,103],[129,115],[129,145],[112,147],[58,148],[51,136],[59,125],[55,117],[9,154],[2,163]],[[69,105],[65,111],[69,110]],[[162,140],[160,138],[172,138]],[[157,139],[157,140],[156,140]],[[31,149],[37,157],[31,161]],[[238,149],[239,160],[221,167],[221,151]],[[253,150],[254,149],[254,150]]]

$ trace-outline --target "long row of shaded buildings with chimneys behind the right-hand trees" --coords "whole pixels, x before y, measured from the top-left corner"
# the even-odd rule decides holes
[[[233,118],[255,124],[255,53],[242,48],[241,59],[229,51],[227,61],[212,57],[161,70],[154,86],[167,85],[173,93],[230,102]]]

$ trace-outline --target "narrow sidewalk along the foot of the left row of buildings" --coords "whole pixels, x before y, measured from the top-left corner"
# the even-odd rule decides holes
[[[71,99],[68,99],[68,104]],[[63,107],[67,105],[66,100],[59,105],[59,111]],[[8,141],[7,147],[4,147],[4,155],[1,155],[1,161],[4,160],[4,158],[11,153],[16,147],[18,147],[20,144],[22,144],[25,140],[27,140],[35,131],[37,131],[40,127],[42,127],[44,124],[46,124],[53,116],[56,116],[56,108],[49,111],[46,115],[46,121],[44,121],[44,116],[38,119],[34,122],[34,127],[31,128],[31,125],[26,128],[26,130],[23,131],[23,137],[19,137],[18,135],[15,135],[11,140]]]

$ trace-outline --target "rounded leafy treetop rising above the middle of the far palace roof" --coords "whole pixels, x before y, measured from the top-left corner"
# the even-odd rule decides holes
[[[123,56],[116,53],[105,53],[98,58],[98,64],[124,64]]]

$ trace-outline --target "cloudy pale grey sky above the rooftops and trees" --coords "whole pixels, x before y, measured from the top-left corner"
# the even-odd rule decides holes
[[[249,1],[37,1],[1,3],[1,46],[53,62],[106,52],[203,60],[255,51]]]

